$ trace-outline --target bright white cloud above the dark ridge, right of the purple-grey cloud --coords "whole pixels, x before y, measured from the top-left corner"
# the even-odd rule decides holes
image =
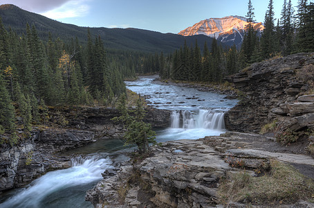
[[[50,19],[84,17],[89,13],[90,10],[90,6],[85,2],[86,0],[68,1],[59,8],[49,10],[48,12],[42,12],[41,15],[44,15]]]

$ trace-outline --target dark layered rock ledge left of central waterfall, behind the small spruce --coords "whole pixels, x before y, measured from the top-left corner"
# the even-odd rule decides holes
[[[62,128],[89,130],[95,132],[96,139],[107,137],[122,137],[124,130],[120,123],[111,119],[120,116],[116,108],[108,107],[72,107],[67,109],[50,109],[50,122],[61,125]],[[151,123],[153,128],[169,127],[169,110],[147,109],[144,121]],[[60,119],[60,115],[62,119]],[[60,121],[61,120],[61,121]]]

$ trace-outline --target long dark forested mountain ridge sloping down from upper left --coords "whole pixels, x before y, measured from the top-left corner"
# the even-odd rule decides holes
[[[12,4],[0,6],[0,17],[6,28],[12,28],[17,34],[25,33],[26,24],[34,24],[41,40],[48,40],[48,33],[53,38],[60,37],[62,40],[69,41],[77,37],[82,44],[87,41],[87,27],[64,24],[53,19],[49,19],[33,12],[22,10]],[[183,37],[173,33],[159,33],[154,31],[141,30],[136,28],[89,28],[91,35],[102,38],[107,50],[131,50],[149,53],[172,53],[183,46],[185,40],[187,45],[195,44],[203,48],[204,42],[210,46],[212,37],[196,35]]]

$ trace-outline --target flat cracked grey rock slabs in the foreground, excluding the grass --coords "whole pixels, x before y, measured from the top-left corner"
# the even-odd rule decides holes
[[[259,177],[255,170],[270,164],[271,159],[293,164],[314,178],[313,158],[292,154],[289,147],[269,146],[279,145],[273,137],[239,132],[198,140],[168,141],[154,147],[150,157],[122,164],[116,175],[105,174],[104,180],[87,192],[86,200],[95,207],[227,207],[219,205],[219,186],[223,180],[243,172]],[[243,202],[228,202],[228,206],[246,207]],[[266,207],[293,206],[311,207],[313,204],[280,205],[277,202]]]

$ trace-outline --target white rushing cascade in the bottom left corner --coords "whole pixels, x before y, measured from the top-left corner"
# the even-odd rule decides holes
[[[111,159],[109,157],[101,158],[100,155],[85,158],[77,157],[72,162],[71,168],[48,172],[34,180],[28,187],[21,189],[15,196],[0,204],[0,207],[47,207],[45,204],[47,198],[50,198],[49,203],[57,203],[58,200],[52,200],[51,198],[66,197],[71,187],[77,187],[77,189],[86,185],[89,187],[90,183],[102,179],[101,173],[104,170],[113,168]],[[84,194],[85,192],[83,192],[83,196]],[[77,196],[75,201],[81,200],[81,196],[75,191],[70,195],[73,198]],[[84,203],[84,198],[82,201]],[[75,203],[79,205],[78,202]],[[64,207],[64,205],[49,204],[48,207]]]

